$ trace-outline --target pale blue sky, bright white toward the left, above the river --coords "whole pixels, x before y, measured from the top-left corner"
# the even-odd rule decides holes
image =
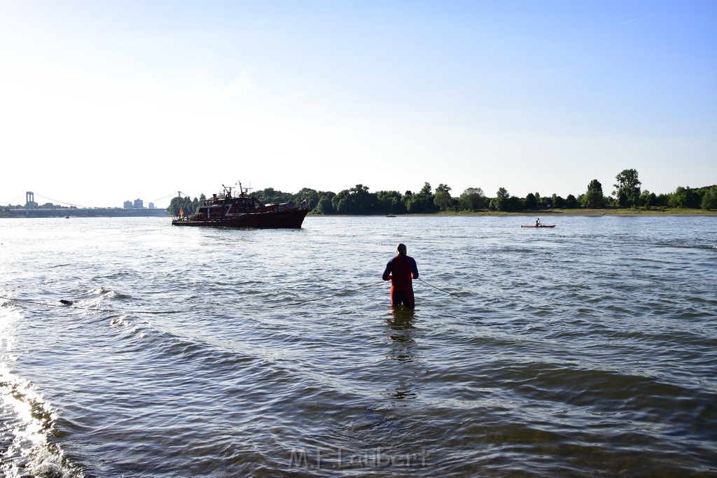
[[[0,204],[717,183],[717,0],[0,0]]]

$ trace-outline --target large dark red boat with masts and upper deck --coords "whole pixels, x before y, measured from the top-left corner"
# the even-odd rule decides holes
[[[199,211],[172,220],[174,226],[214,226],[214,227],[261,227],[299,229],[308,214],[308,204],[303,201],[298,206],[289,203],[262,204],[259,199],[247,195],[247,189],[239,183],[239,195],[232,196],[232,188],[224,186],[224,191],[212,194],[202,201]]]

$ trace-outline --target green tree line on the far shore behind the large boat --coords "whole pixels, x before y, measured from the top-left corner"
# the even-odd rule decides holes
[[[318,215],[380,215],[380,214],[531,214],[554,212],[560,214],[703,214],[711,215],[717,210],[717,185],[701,188],[678,186],[672,193],[655,194],[642,189],[635,169],[625,169],[615,176],[614,190],[608,196],[602,184],[593,179],[584,193],[566,198],[551,194],[528,193],[524,198],[511,196],[505,188],[499,188],[495,196],[488,197],[481,188],[467,188],[460,196],[452,196],[452,189],[439,184],[435,190],[424,183],[417,191],[369,192],[369,186],[356,184],[338,193],[303,188],[298,193],[284,193],[266,188],[252,192],[265,204],[295,203],[307,201],[311,214]],[[196,211],[206,196],[191,199],[189,196],[172,199],[167,211],[172,216]],[[717,214],[717,211],[714,212]]]

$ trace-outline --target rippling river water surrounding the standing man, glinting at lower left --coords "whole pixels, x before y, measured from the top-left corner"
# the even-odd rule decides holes
[[[717,476],[717,218],[534,221],[1,220],[0,476]]]

